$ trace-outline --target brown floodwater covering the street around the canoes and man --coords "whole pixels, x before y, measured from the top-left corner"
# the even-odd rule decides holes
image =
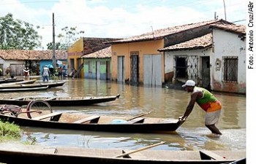
[[[184,114],[189,102],[185,90],[162,87],[137,87],[115,82],[91,79],[67,79],[63,87],[46,91],[4,93],[3,97],[23,96],[103,96],[117,95],[116,101],[94,106],[53,107],[54,111],[85,114],[138,115],[151,112],[147,117],[176,118]],[[246,148],[246,97],[214,93],[222,102],[222,116],[217,127],[223,135],[211,137],[204,126],[204,112],[195,105],[189,118],[178,130],[170,134],[102,133],[97,131],[52,130],[22,127],[22,141],[35,140],[37,144],[67,147],[138,149],[165,141],[151,149],[170,150],[233,150]]]

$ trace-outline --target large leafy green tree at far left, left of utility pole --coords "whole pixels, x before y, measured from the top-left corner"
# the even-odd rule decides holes
[[[0,17],[1,50],[33,50],[41,45],[41,38],[32,24],[14,20],[10,13]]]

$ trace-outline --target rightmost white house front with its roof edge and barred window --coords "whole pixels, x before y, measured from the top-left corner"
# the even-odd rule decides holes
[[[246,28],[213,25],[212,90],[246,93]]]

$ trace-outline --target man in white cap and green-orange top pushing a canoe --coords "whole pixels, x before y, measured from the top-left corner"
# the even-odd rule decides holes
[[[186,120],[187,117],[189,117],[189,114],[194,108],[195,102],[197,102],[197,104],[206,112],[206,127],[211,130],[211,133],[222,135],[219,129],[215,126],[219,121],[222,109],[222,104],[218,99],[205,88],[196,87],[195,82],[191,79],[187,80],[182,87],[186,87],[187,92],[191,93],[191,96],[186,112],[182,117],[180,117],[180,120]]]

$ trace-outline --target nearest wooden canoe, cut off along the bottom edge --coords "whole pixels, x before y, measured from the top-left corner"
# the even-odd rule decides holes
[[[145,149],[89,149],[81,147],[47,147],[25,144],[0,144],[1,163],[104,163],[104,164],[202,164],[246,163],[245,150],[170,151]],[[135,153],[129,153],[135,152]],[[127,154],[126,156],[118,157]]]

